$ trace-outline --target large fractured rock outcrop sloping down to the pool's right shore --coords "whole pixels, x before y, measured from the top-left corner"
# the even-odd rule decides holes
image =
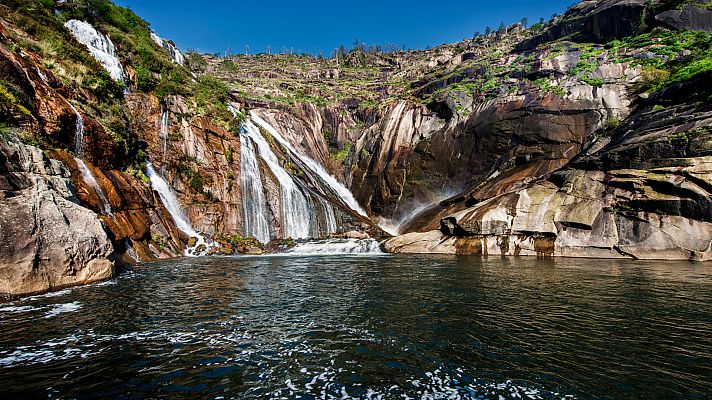
[[[386,248],[712,260],[712,110],[696,102],[710,82],[701,76],[660,93],[564,168],[483,196],[441,218],[438,230],[394,238]]]

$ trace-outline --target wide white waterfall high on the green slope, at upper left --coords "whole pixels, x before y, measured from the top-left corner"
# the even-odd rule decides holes
[[[112,79],[118,82],[124,81],[124,68],[116,57],[114,44],[108,37],[84,21],[70,19],[64,26],[79,43],[89,48],[91,55],[104,66]]]

